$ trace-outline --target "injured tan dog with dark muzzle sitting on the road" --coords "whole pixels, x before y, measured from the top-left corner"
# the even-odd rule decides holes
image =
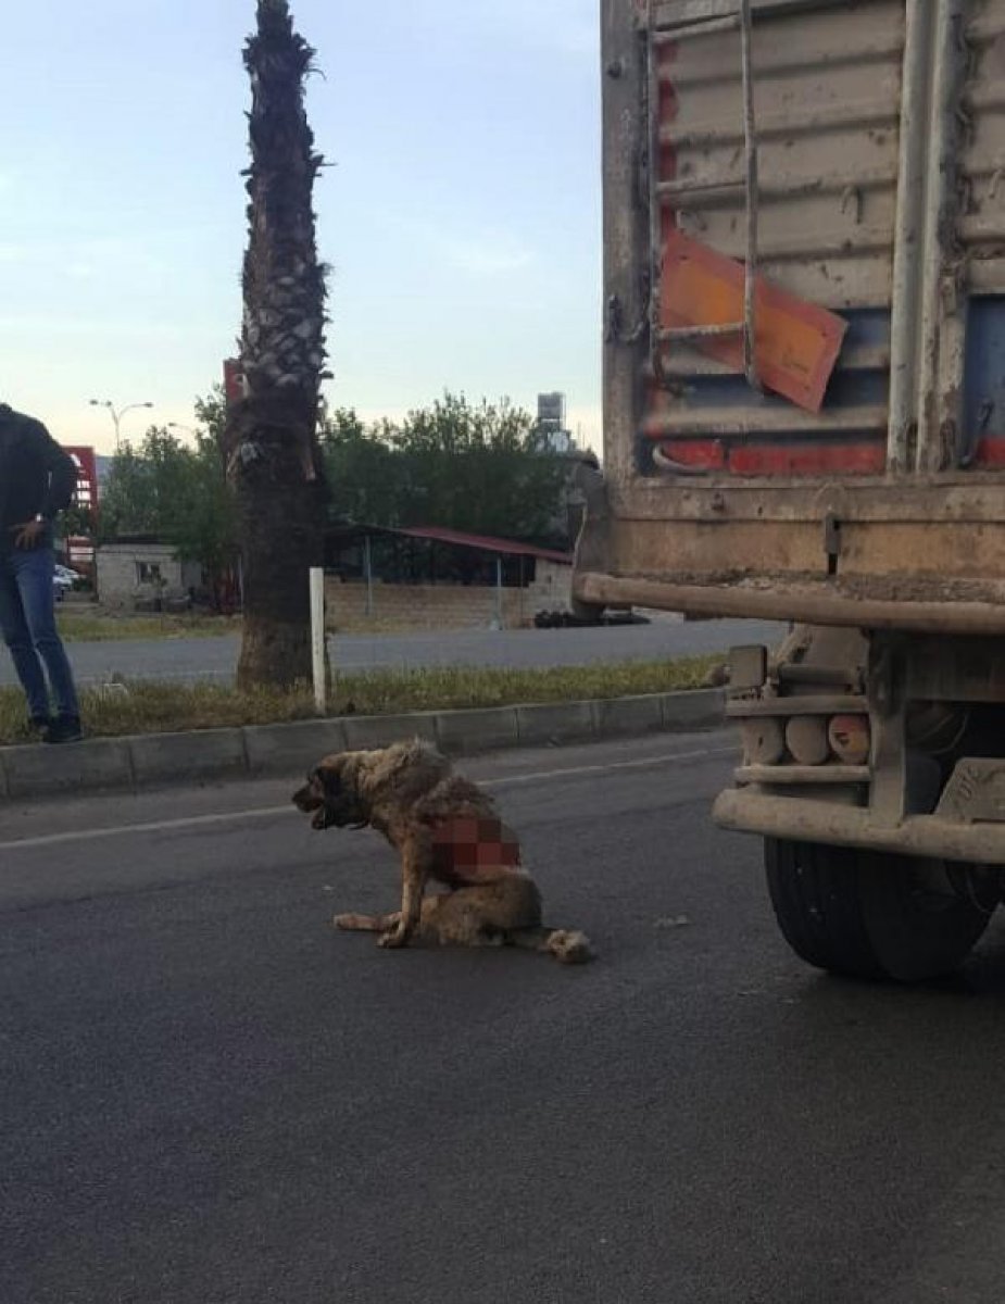
[[[375,828],[401,857],[401,909],[339,914],[339,928],[379,932],[379,945],[415,936],[441,945],[528,947],[563,964],[592,960],[581,932],[546,928],[541,893],[490,797],[418,741],[326,756],[293,794],[317,829]],[[447,892],[424,900],[429,879]]]

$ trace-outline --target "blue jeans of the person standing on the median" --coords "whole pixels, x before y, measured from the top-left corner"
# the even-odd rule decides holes
[[[35,720],[50,715],[50,686],[60,716],[80,719],[81,713],[73,672],[56,629],[55,565],[51,548],[0,552],[0,634]]]

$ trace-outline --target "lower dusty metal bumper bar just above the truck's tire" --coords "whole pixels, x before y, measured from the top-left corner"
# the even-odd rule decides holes
[[[826,842],[873,852],[974,865],[1005,865],[1005,824],[963,824],[939,815],[911,815],[884,828],[862,807],[774,797],[750,788],[720,795],[713,818],[722,828],[794,842]]]

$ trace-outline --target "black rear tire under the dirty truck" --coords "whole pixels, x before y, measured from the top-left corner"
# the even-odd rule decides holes
[[[922,982],[958,969],[993,901],[967,866],[766,838],[768,889],[795,953],[851,978]]]

